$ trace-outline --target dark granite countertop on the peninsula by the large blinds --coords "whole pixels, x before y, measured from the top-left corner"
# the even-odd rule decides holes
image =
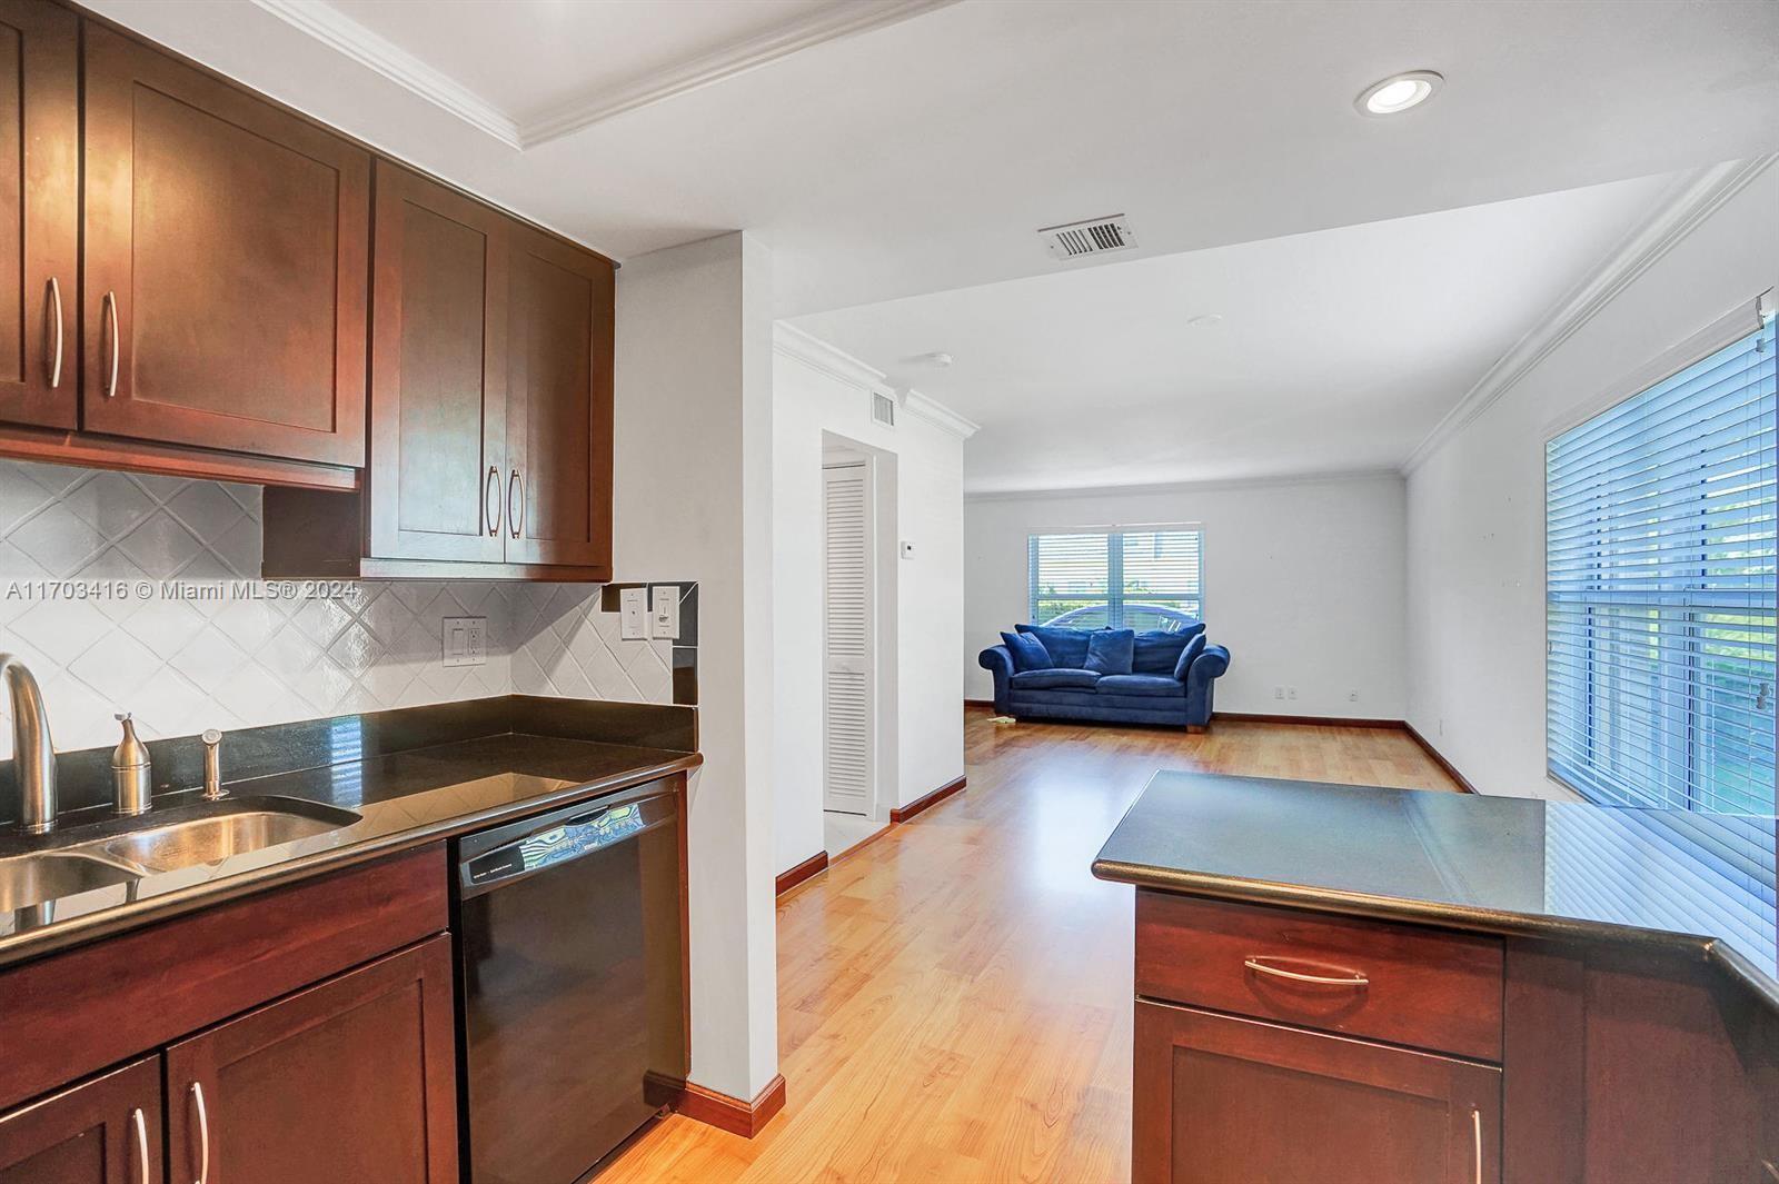
[[[1101,880],[1457,930],[1695,951],[1779,1010],[1775,820],[1156,773]]]

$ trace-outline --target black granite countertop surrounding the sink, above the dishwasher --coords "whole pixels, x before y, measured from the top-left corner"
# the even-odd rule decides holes
[[[688,750],[694,747],[690,727],[683,731],[685,740],[672,740],[676,729],[667,729],[669,743],[680,745],[676,748],[534,734],[523,731],[528,722],[548,725],[555,732],[578,731],[582,736],[616,731],[630,738],[637,729],[601,729],[598,713],[592,713],[592,718],[575,720],[573,727],[562,727],[557,708],[550,708],[546,716],[528,720],[523,709],[511,709],[511,704],[523,708],[521,697],[482,702],[502,704],[493,722],[489,711],[466,715],[452,708],[416,716],[422,722],[418,727],[415,718],[404,720],[402,727],[388,727],[386,720],[400,713],[384,713],[382,727],[366,727],[365,722],[372,716],[342,716],[304,724],[301,732],[258,729],[262,734],[244,736],[242,747],[253,740],[262,741],[256,761],[256,772],[262,775],[229,780],[224,804],[205,804],[196,789],[185,789],[158,796],[155,809],[137,820],[94,811],[91,818],[75,816],[64,821],[57,834],[44,839],[23,836],[0,839],[0,859],[4,859],[66,850],[76,843],[109,841],[146,827],[164,827],[187,818],[213,816],[219,809],[254,804],[274,809],[283,804],[299,814],[308,807],[310,816],[326,814],[329,821],[345,823],[210,864],[146,871],[84,892],[32,901],[28,907],[0,908],[0,965],[203,908],[274,884],[624,789],[696,768],[703,761],[697,752]],[[495,727],[514,731],[495,731]],[[495,734],[423,743],[438,741],[443,731],[452,729]],[[400,741],[420,747],[390,750]],[[279,752],[292,764],[310,763],[310,766],[263,772],[267,764],[276,764]]]

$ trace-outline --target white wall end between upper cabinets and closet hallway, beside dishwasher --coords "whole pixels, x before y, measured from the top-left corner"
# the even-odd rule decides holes
[[[614,574],[699,581],[692,1079],[738,1099],[777,1072],[769,293],[747,235],[617,272]]]

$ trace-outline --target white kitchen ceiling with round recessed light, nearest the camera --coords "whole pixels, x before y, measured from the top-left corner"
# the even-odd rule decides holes
[[[756,231],[786,315],[1779,148],[1772,0],[87,2],[617,258]]]

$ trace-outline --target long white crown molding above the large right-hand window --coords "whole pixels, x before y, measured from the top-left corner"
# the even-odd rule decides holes
[[[1580,332],[1587,322],[1594,320],[1638,276],[1654,267],[1676,244],[1717,213],[1726,201],[1774,167],[1774,162],[1779,162],[1779,153],[1752,160],[1731,160],[1701,169],[1688,181],[1681,183],[1660,210],[1626,235],[1598,268],[1571,288],[1539,318],[1537,325],[1489,366],[1475,386],[1464,391],[1457,405],[1409,453],[1409,459],[1402,464],[1402,473],[1413,473],[1425,464],[1446,441],[1469,427],[1482,412],[1514,389],[1521,379],[1532,373],[1539,363]]]

